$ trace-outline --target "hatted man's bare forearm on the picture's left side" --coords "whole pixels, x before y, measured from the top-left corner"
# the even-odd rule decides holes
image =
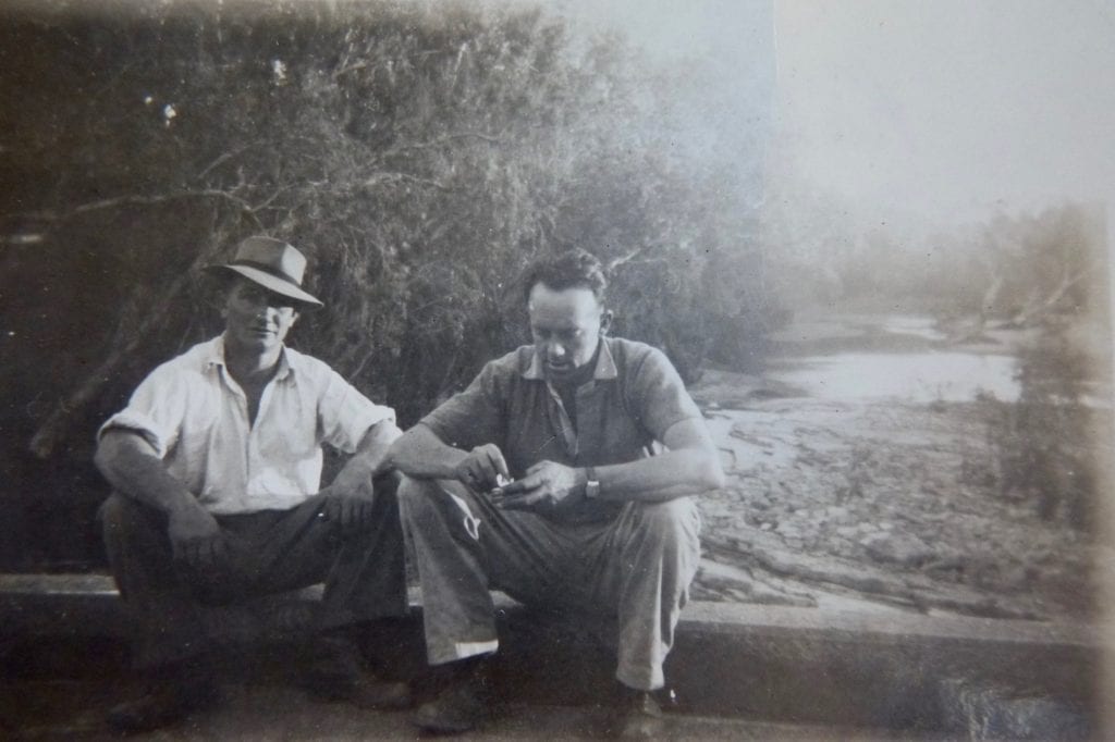
[[[97,468],[118,492],[171,515],[200,507],[186,486],[171,476],[162,459],[142,437],[109,430],[97,446]]]

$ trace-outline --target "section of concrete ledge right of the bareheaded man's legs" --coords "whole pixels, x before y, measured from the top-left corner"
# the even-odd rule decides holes
[[[667,667],[702,713],[1086,739],[1104,709],[1111,646],[1099,640],[1079,625],[705,604],[679,628]],[[958,683],[963,703],[951,692]],[[1008,723],[1011,715],[1022,721]],[[1000,721],[980,726],[977,716]],[[1059,724],[1054,738],[1050,723]]]

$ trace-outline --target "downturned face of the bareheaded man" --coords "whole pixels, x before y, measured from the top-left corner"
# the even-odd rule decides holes
[[[608,316],[589,289],[555,291],[544,283],[531,289],[526,311],[534,350],[550,381],[565,381],[597,352]]]

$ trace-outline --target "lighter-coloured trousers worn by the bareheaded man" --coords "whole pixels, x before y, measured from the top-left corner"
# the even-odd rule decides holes
[[[495,651],[491,589],[526,605],[615,621],[615,677],[663,685],[662,663],[700,560],[691,498],[628,502],[614,520],[562,524],[501,510],[458,481],[404,478],[404,531],[417,557],[433,665]]]

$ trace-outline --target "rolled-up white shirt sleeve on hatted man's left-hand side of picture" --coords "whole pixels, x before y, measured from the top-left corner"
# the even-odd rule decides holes
[[[100,426],[97,440],[109,430],[127,430],[142,436],[159,458],[165,458],[178,440],[188,397],[182,374],[159,367],[136,387],[127,407]]]

